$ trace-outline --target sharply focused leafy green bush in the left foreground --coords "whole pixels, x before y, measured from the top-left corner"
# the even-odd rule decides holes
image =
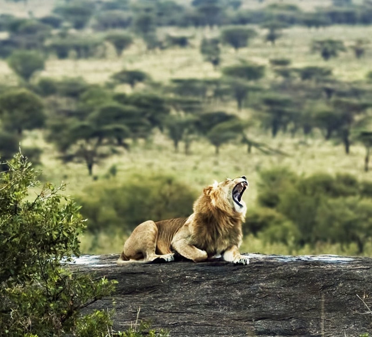
[[[81,316],[80,309],[112,293],[114,282],[66,265],[80,253],[80,207],[60,194],[64,186],[39,186],[23,155],[8,166],[0,173],[1,334],[105,336],[110,314]]]

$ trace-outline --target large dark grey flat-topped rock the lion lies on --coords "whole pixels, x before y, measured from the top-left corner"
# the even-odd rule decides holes
[[[140,308],[140,319],[171,336],[372,335],[371,258],[247,255],[247,266],[116,266],[118,255],[82,256],[73,268],[118,280],[115,330],[128,328]],[[108,298],[90,309],[112,307]]]

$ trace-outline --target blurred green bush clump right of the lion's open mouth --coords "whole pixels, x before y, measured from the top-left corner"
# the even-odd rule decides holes
[[[248,214],[245,231],[270,242],[349,245],[362,253],[372,235],[372,187],[350,174],[299,177],[283,168],[261,172],[260,209]]]

